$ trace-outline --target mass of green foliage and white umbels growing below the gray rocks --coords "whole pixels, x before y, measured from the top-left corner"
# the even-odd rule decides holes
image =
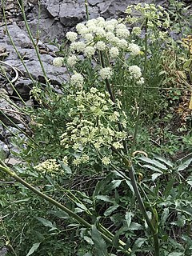
[[[170,7],[181,26],[183,3]],[[78,24],[54,59],[69,81],[59,94],[49,83],[30,91],[32,134],[13,140],[22,159],[13,169],[74,216],[2,175],[0,246],[9,255],[192,254],[190,112],[179,109],[189,99],[188,52],[170,38],[161,6],[126,14]],[[126,22],[138,25],[130,33]]]

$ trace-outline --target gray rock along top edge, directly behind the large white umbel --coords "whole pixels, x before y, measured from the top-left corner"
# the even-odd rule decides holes
[[[90,18],[102,16],[104,18],[119,18],[124,16],[126,7],[130,4],[142,2],[141,0],[89,0],[88,10]],[[153,2],[146,0],[145,2]],[[166,0],[159,0],[162,4]],[[61,41],[65,38],[67,31],[71,30],[78,22],[86,21],[86,7],[84,0],[42,0],[41,1],[41,22],[38,22],[38,6],[28,14],[30,29],[37,34],[42,41],[57,38]],[[23,24],[23,23],[22,23]],[[21,26],[21,23],[20,23]],[[24,26],[22,25],[22,28]]]

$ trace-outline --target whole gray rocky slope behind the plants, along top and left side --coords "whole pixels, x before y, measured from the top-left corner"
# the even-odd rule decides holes
[[[0,4],[0,157],[3,154],[6,162],[14,164],[17,162],[11,154],[11,150],[17,148],[10,145],[10,140],[14,134],[24,136],[21,130],[26,130],[25,117],[19,114],[14,107],[22,106],[22,101],[18,98],[18,93],[29,106],[33,105],[30,99],[30,90],[35,82],[45,82],[42,69],[35,54],[34,47],[26,33],[26,28],[22,20],[22,14],[18,7],[18,1],[5,0],[7,28],[18,53],[22,56],[30,74],[22,65],[18,54],[12,46],[11,40],[6,33],[6,25],[3,20],[2,6]],[[20,0],[21,2],[21,0]],[[126,6],[138,3],[138,0],[88,0],[90,18],[102,16],[104,18],[118,18],[124,16]],[[140,1],[141,2],[141,1]],[[152,2],[152,1],[145,1]],[[157,1],[157,4],[166,6],[167,1]],[[61,42],[69,30],[74,30],[78,22],[86,20],[86,8],[84,0],[24,0],[26,18],[32,31],[34,41],[38,44],[41,54],[42,64],[46,70],[47,78],[51,84],[59,86],[68,79],[65,69],[52,66],[55,56],[56,46],[50,41]],[[4,74],[6,70],[6,75]],[[11,86],[10,81],[14,85]],[[7,101],[8,99],[8,101]],[[4,114],[3,114],[4,113]],[[6,114],[6,115],[5,115]],[[2,122],[6,126],[2,126]],[[15,127],[15,124],[18,127]]]

